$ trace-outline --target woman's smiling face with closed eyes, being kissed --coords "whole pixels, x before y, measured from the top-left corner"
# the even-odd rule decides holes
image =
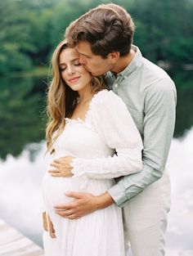
[[[65,48],[59,58],[62,79],[74,91],[91,87],[91,74],[79,63],[79,52],[75,48]]]

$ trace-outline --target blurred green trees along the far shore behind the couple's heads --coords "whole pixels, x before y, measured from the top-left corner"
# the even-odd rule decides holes
[[[71,20],[106,0],[0,1],[0,74],[49,65]],[[137,25],[134,43],[151,61],[191,63],[192,0],[114,0]]]

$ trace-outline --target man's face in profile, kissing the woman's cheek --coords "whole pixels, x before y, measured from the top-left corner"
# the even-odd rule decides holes
[[[87,41],[79,42],[76,46],[76,50],[79,52],[79,62],[82,63],[92,75],[101,75],[110,71],[114,67],[113,61],[111,61],[110,54],[107,58],[103,59],[99,55],[92,53],[90,43]]]

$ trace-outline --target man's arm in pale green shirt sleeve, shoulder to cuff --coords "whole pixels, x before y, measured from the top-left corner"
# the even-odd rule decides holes
[[[119,206],[162,177],[173,138],[176,90],[170,79],[162,79],[146,94],[143,168],[123,177],[109,194]]]

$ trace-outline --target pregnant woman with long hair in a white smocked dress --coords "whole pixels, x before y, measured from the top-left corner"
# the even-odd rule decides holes
[[[45,256],[123,256],[122,213],[115,204],[83,218],[62,218],[54,205],[66,191],[101,195],[114,177],[141,170],[142,142],[127,106],[79,62],[79,52],[62,41],[52,56],[47,95],[47,153],[69,159],[67,177],[47,164],[43,177]]]

